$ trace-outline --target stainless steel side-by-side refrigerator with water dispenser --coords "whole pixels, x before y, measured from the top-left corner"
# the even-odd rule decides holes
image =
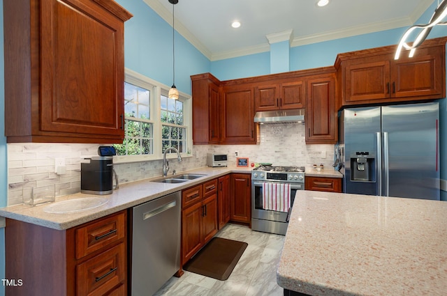
[[[439,103],[344,109],[344,192],[439,200]]]

